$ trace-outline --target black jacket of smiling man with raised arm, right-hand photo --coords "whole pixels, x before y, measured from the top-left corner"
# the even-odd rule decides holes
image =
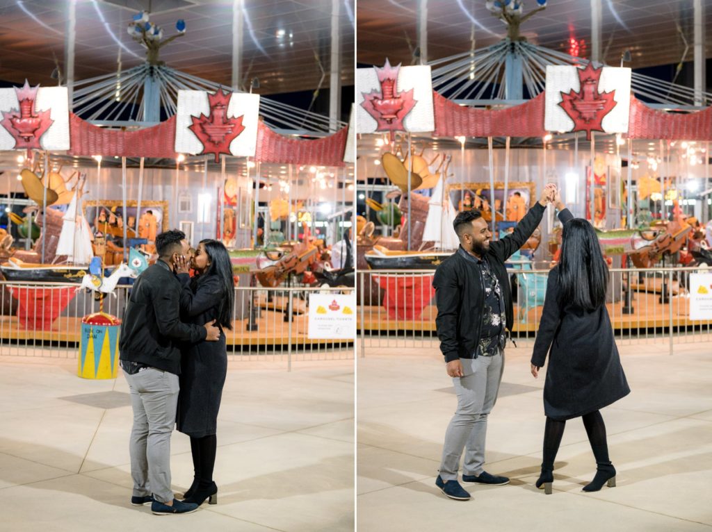
[[[510,332],[514,323],[514,311],[512,290],[504,262],[532,235],[545,210],[545,206],[536,202],[511,235],[490,242],[486,255],[491,270],[503,289],[506,326]],[[438,307],[435,326],[440,339],[440,351],[446,362],[476,357],[484,307],[483,283],[479,268],[473,267],[458,252],[447,257],[435,270],[433,287]]]

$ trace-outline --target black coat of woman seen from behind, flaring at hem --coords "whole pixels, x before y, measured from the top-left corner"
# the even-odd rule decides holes
[[[593,311],[561,306],[558,274],[558,267],[549,272],[531,363],[544,366],[549,351],[544,412],[555,420],[567,420],[614,403],[630,388],[605,304]]]

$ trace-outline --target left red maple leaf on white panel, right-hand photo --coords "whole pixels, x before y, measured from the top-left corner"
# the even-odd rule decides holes
[[[374,67],[374,69],[381,90],[362,92],[364,100],[361,102],[361,107],[378,123],[376,131],[403,131],[403,119],[417,104],[417,100],[413,99],[414,89],[396,92],[400,64],[392,67],[389,60],[386,60],[383,68]]]

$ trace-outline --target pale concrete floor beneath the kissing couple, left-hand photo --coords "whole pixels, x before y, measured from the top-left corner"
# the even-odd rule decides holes
[[[1,346],[0,346],[1,347]],[[0,356],[0,530],[352,531],[353,361],[231,362],[218,422],[219,504],[154,516],[129,504],[127,384],[76,361]],[[192,482],[172,437],[172,482]]]

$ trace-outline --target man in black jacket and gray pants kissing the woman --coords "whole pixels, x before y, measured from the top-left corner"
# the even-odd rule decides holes
[[[216,341],[220,331],[209,324],[184,324],[179,319],[182,284],[174,274],[179,256],[189,251],[182,231],[156,237],[159,255],[137,278],[121,327],[120,362],[131,391],[131,504],[151,503],[157,515],[188,514],[197,504],[173,498],[171,433],[176,419],[180,350],[178,342]],[[152,495],[153,494],[153,495]]]

